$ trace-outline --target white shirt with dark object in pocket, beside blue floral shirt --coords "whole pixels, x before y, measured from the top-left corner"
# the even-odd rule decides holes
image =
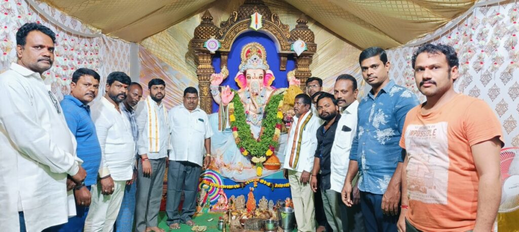
[[[357,108],[359,101],[353,101],[342,112],[340,120],[335,131],[335,139],[331,154],[331,175],[330,175],[330,189],[340,193],[343,190],[344,180],[348,172],[349,155],[353,137],[357,131]]]

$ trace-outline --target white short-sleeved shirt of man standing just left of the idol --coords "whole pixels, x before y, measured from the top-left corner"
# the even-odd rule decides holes
[[[189,112],[184,105],[173,107],[169,113],[172,150],[169,159],[187,161],[202,166],[205,139],[213,135],[207,113],[200,108]]]

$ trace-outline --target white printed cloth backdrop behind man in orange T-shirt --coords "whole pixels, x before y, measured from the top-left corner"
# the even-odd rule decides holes
[[[495,110],[502,125],[505,147],[519,147],[519,4],[509,3],[474,8],[458,26],[432,40],[453,46],[460,60],[457,92],[483,99]],[[442,30],[439,29],[439,30]],[[418,92],[411,67],[417,47],[388,51],[390,77]]]

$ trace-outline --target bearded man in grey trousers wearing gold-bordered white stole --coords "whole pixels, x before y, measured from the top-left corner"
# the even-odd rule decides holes
[[[169,127],[166,106],[166,82],[148,82],[149,96],[135,110],[139,127],[139,160],[135,210],[135,232],[164,230],[157,227],[164,172],[168,158]]]

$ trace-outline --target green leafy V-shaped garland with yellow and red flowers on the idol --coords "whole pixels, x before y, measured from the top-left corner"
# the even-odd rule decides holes
[[[234,90],[233,90],[234,91]],[[235,96],[238,95],[235,91]],[[270,97],[262,120],[262,131],[260,138],[254,139],[250,125],[245,119],[245,111],[241,99],[234,97],[229,103],[229,121],[233,131],[236,145],[244,156],[248,156],[252,163],[256,165],[256,176],[263,174],[263,162],[266,156],[274,154],[281,135],[281,125],[283,113],[280,106],[283,106],[283,94],[274,94]]]

